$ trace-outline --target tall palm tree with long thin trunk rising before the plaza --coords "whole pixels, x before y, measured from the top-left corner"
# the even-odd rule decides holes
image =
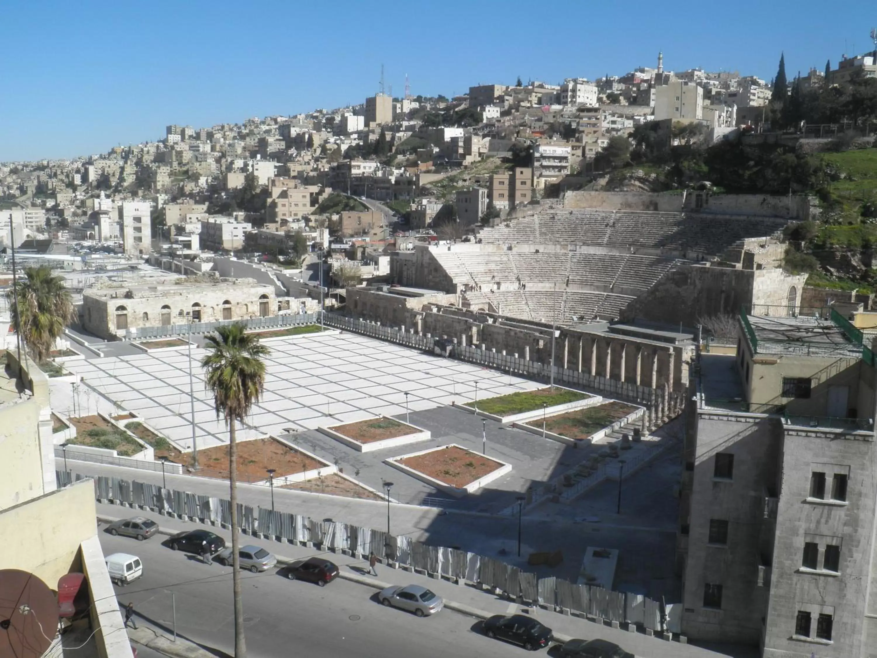
[[[269,350],[259,339],[245,333],[246,325],[236,322],[217,328],[207,336],[207,354],[201,360],[206,373],[207,388],[213,393],[213,402],[225,417],[229,434],[229,485],[232,503],[232,586],[234,589],[234,655],[245,658],[244,604],[240,596],[240,563],[238,536],[238,446],[235,421],[244,422],[246,414],[259,401],[265,390],[265,363],[261,358]]]

